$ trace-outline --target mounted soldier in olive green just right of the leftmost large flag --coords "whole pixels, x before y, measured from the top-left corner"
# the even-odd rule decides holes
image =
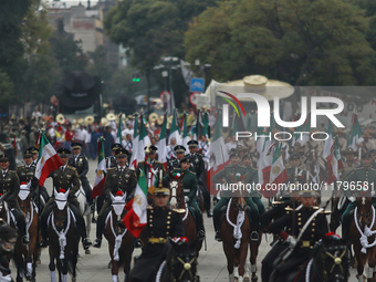
[[[67,160],[70,158],[71,150],[66,148],[60,148],[58,150],[59,157],[63,163],[63,166],[55,169],[49,177],[52,177],[53,190],[59,192],[60,189],[69,190],[70,195],[67,197],[67,201],[70,203],[70,208],[72,209],[76,220],[77,227],[81,231],[82,244],[85,250],[92,246],[91,240],[86,237],[86,227],[83,216],[80,211],[80,203],[77,201],[77,197],[75,196],[76,191],[80,189],[80,178],[77,170],[74,167],[67,165]],[[51,195],[50,200],[45,203],[45,207],[41,215],[41,231],[42,231],[42,241],[41,247],[45,248],[49,246],[48,241],[48,217],[53,209],[53,203],[55,201],[54,192]]]

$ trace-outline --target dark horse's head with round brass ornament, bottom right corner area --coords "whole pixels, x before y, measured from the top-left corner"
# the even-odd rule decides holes
[[[315,272],[320,281],[347,281],[349,251],[348,243],[352,237],[338,239],[336,236],[325,236],[315,257]]]

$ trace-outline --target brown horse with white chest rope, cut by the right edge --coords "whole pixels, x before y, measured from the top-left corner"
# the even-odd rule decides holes
[[[368,262],[367,281],[373,281],[376,265],[376,226],[375,208],[370,197],[359,197],[356,199],[354,220],[351,224],[352,243],[357,260],[357,279],[363,281],[364,265]]]

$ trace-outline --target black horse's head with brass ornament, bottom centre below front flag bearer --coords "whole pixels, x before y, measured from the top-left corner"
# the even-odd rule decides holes
[[[199,281],[197,276],[197,239],[191,243],[175,242],[174,239],[169,241],[171,250],[167,259],[167,271],[169,272],[171,281]]]

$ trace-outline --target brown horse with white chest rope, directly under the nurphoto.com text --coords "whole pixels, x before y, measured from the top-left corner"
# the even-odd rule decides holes
[[[234,196],[230,198],[227,211],[221,217],[220,232],[230,282],[234,281],[236,274],[238,275],[238,273],[234,273],[234,267],[239,271],[238,282],[244,281],[246,260],[251,233],[250,221],[246,212],[246,192],[244,190],[233,191]]]

